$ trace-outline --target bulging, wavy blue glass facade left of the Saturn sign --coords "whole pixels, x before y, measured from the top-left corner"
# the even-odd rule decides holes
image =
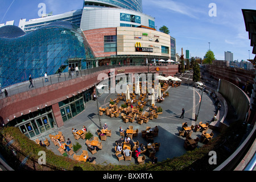
[[[38,78],[68,71],[69,59],[81,61],[93,58],[81,29],[69,22],[55,22],[25,34],[15,26],[0,28],[0,82],[9,86],[27,81],[29,75]]]

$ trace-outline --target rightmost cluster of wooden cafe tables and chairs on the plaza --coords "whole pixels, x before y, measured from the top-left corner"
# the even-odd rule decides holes
[[[179,130],[179,136],[185,137],[184,148],[186,150],[194,150],[198,143],[208,143],[213,138],[213,133],[207,133],[209,129],[209,123],[199,122],[196,126],[187,126],[186,123],[182,123],[182,129]],[[191,138],[193,132],[201,132],[201,137]]]

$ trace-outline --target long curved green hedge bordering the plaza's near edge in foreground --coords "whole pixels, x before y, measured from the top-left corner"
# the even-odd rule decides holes
[[[38,160],[38,152],[46,151],[47,163],[57,168],[64,168],[67,170],[97,170],[97,171],[181,171],[181,170],[203,170],[212,171],[217,165],[220,165],[226,160],[240,145],[243,135],[246,132],[246,125],[243,125],[241,121],[234,122],[226,131],[216,138],[210,140],[208,144],[204,144],[203,147],[196,148],[193,151],[187,151],[184,155],[166,159],[163,162],[157,164],[146,163],[144,165],[131,164],[130,166],[120,166],[114,164],[108,164],[102,166],[100,164],[92,165],[84,162],[77,162],[76,160],[65,158],[64,156],[55,155],[52,151],[47,150],[46,147],[40,147],[34,141],[28,139],[23,135],[16,127],[5,127],[1,130],[1,134],[4,137],[12,136],[20,151],[24,154]],[[4,142],[4,138],[1,138],[1,143]],[[3,147],[1,147],[2,150]],[[209,152],[217,152],[217,165],[209,165]]]

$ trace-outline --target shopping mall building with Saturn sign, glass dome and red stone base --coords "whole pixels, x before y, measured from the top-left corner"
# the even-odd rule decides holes
[[[1,26],[1,25],[0,25]],[[20,19],[19,27],[0,27],[0,82],[7,90],[28,77],[40,78],[93,68],[109,73],[119,65],[123,73],[148,73],[152,60],[174,60],[175,38],[155,30],[155,19],[142,13],[141,0],[84,1],[81,10],[37,19]],[[105,66],[104,66],[105,65]],[[177,65],[150,65],[151,73],[174,75]],[[92,99],[100,72],[57,82],[1,98],[1,124],[16,126],[29,138],[64,125]],[[118,70],[115,70],[118,73]]]

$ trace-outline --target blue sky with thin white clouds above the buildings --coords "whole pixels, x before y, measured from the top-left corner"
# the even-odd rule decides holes
[[[0,0],[0,23],[39,18],[39,3],[46,4],[46,13],[54,15],[82,9],[83,0]],[[212,11],[216,5],[216,11]],[[234,60],[253,59],[248,32],[241,9],[256,9],[255,0],[143,0],[143,13],[155,18],[157,30],[163,25],[176,39],[176,52],[188,49],[191,56],[203,57],[209,49],[216,59],[224,60],[224,52],[234,53]],[[216,16],[209,16],[216,12]],[[250,52],[248,51],[250,50]]]

